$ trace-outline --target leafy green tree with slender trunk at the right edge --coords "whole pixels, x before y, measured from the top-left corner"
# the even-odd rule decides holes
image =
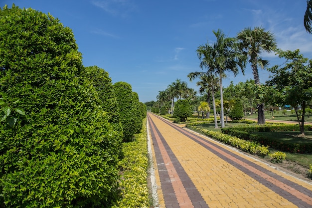
[[[312,100],[312,60],[295,51],[277,50],[280,58],[285,58],[284,65],[275,65],[269,69],[273,73],[268,84],[279,89],[283,104],[291,105],[296,112],[301,134],[305,134],[306,106]],[[302,109],[300,113],[300,109]]]

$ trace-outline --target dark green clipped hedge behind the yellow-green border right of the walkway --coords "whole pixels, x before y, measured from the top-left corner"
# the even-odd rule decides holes
[[[287,129],[287,128],[283,128],[283,129]],[[250,129],[249,129],[250,130]],[[259,129],[256,129],[259,130]],[[260,129],[259,132],[263,131],[264,129]],[[270,129],[267,128],[266,130],[275,130],[275,128]],[[264,136],[259,136],[259,135],[255,135],[249,132],[245,132],[245,131],[240,131],[234,128],[223,128],[221,129],[222,133],[227,134],[227,135],[231,135],[234,137],[238,137],[244,140],[248,140],[248,141],[252,141],[252,142],[256,142],[256,143],[260,143],[264,146],[269,146],[273,149],[276,150],[280,150],[283,152],[290,152],[290,153],[312,153],[312,143],[306,143],[306,144],[301,144],[301,143],[288,143],[285,141],[281,141],[279,139],[274,139],[274,138],[267,138]],[[287,130],[285,130],[287,131]],[[297,130],[299,131],[299,130]]]

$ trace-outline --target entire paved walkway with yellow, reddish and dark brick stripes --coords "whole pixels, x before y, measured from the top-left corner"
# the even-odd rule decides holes
[[[312,208],[312,183],[148,113],[159,208]]]

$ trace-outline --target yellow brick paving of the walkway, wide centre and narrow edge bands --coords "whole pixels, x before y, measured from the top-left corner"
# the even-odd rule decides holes
[[[231,164],[207,150],[200,144],[189,139],[174,128],[165,124],[153,114],[149,114],[160,134],[165,138],[168,146],[180,162],[181,166],[190,177],[191,181],[201,194],[209,208],[297,208],[287,199],[267,188],[257,180],[248,176]],[[203,137],[208,139],[206,137]],[[218,142],[210,140],[215,144]],[[223,146],[223,145],[222,145]],[[223,146],[224,148],[225,146]],[[257,161],[232,148],[226,149],[239,154],[247,160],[252,160],[257,165],[268,169],[284,178],[293,181],[312,192],[312,185],[305,181],[284,174],[272,167]],[[156,164],[156,163],[155,163]],[[157,169],[157,167],[155,167]],[[156,171],[157,172],[157,171]],[[156,177],[159,177],[156,174]],[[268,178],[268,176],[265,176]],[[274,180],[274,179],[272,179]],[[159,207],[164,208],[159,178],[157,184]],[[309,202],[311,199],[307,199]],[[311,206],[312,207],[312,206]]]

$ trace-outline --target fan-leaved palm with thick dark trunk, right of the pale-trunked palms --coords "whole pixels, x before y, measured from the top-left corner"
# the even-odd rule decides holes
[[[258,66],[266,69],[269,65],[268,60],[260,57],[261,52],[274,51],[277,43],[274,35],[270,31],[265,31],[262,27],[251,29],[247,27],[240,31],[237,36],[238,47],[242,53],[248,58],[253,70],[255,84],[260,85]],[[258,104],[258,124],[265,124],[264,104]]]

